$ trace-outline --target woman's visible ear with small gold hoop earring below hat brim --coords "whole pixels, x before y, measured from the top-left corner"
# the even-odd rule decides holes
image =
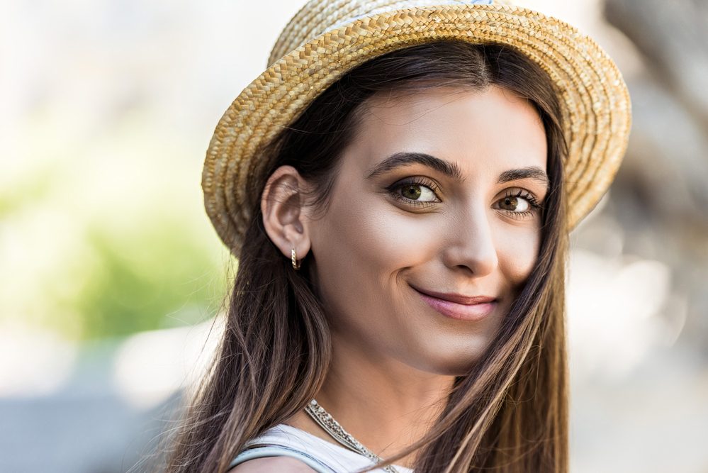
[[[261,196],[266,233],[288,260],[293,248],[298,260],[310,251],[309,221],[304,211],[306,189],[307,182],[297,169],[281,166],[270,175]]]

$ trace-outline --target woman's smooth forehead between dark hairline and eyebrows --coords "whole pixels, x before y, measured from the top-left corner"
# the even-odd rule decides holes
[[[373,96],[346,154],[356,156],[356,168],[369,169],[401,151],[456,162],[465,174],[546,169],[539,114],[527,100],[495,86]]]

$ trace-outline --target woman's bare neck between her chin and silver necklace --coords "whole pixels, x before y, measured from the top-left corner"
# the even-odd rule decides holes
[[[344,340],[332,345],[332,363],[317,394],[318,403],[381,457],[395,455],[420,440],[444,408],[454,377],[367,354],[360,347],[348,347]],[[292,424],[331,440],[314,421],[300,417]],[[415,452],[395,463],[411,466],[414,461]]]

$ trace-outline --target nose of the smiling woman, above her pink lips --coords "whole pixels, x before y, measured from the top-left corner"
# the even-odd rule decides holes
[[[476,277],[493,272],[499,264],[493,230],[485,209],[469,208],[451,222],[443,248],[443,262]]]

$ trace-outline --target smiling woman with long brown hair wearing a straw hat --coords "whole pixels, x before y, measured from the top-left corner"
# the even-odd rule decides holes
[[[239,267],[169,471],[567,471],[567,233],[626,87],[553,18],[439,3],[310,1],[220,121]]]

